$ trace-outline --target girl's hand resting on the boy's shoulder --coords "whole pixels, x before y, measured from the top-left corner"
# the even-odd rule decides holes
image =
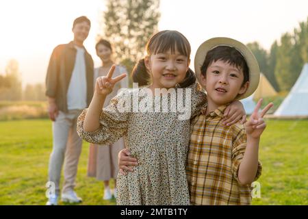
[[[233,125],[241,120],[241,124],[246,122],[246,112],[244,106],[240,101],[233,101],[224,110],[224,118],[222,119],[223,125]]]

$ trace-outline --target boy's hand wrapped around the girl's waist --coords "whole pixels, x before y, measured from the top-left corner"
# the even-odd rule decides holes
[[[130,157],[131,152],[129,149],[123,149],[118,153],[118,168],[122,175],[127,175],[126,171],[133,172],[130,166],[137,166],[136,158]]]

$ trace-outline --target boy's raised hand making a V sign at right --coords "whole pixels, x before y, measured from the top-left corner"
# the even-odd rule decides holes
[[[273,106],[272,103],[268,103],[268,105],[259,113],[261,107],[262,99],[259,99],[255,110],[253,110],[253,114],[251,114],[251,118],[249,118],[246,123],[246,134],[252,138],[259,138],[261,133],[266,128],[266,123],[263,119],[263,116],[270,110]]]

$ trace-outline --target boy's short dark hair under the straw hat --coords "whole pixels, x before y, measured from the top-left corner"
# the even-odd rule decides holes
[[[218,46],[207,52],[205,60],[201,66],[201,74],[205,77],[208,66],[212,62],[217,62],[218,60],[227,62],[228,64],[231,64],[232,66],[235,66],[236,68],[241,68],[243,70],[244,81],[242,85],[249,81],[249,68],[246,60],[237,49],[228,46]]]

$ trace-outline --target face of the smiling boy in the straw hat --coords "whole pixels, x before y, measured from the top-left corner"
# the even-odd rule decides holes
[[[212,62],[207,67],[206,77],[201,75],[201,86],[207,91],[207,99],[215,107],[231,103],[238,94],[244,94],[249,82],[244,81],[242,69],[222,60]]]

